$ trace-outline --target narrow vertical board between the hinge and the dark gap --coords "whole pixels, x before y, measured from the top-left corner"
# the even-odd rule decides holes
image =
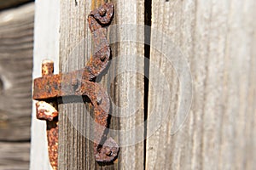
[[[113,129],[120,150],[115,169],[143,169],[144,164],[144,1],[114,1],[110,32]],[[129,40],[129,41],[127,41]]]

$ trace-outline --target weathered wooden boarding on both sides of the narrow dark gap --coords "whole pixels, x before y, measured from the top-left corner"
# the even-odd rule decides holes
[[[92,46],[86,17],[102,2],[60,2],[60,32],[56,27],[54,31],[60,33],[61,72],[83,68],[90,58]],[[59,116],[60,169],[255,169],[255,2],[155,0],[152,5],[151,1],[111,2],[115,5],[112,26],[152,26],[151,32],[132,25],[128,29],[126,26],[109,30],[113,68],[100,83],[110,87],[113,113],[117,115],[112,117],[110,128],[119,130],[110,136],[114,135],[122,146],[119,158],[111,164],[96,163],[93,144],[83,135],[90,123],[90,114],[86,112],[90,111],[90,105],[64,101]],[[45,7],[41,7],[38,6],[43,13]],[[129,41],[134,36],[137,39]],[[140,42],[150,36],[148,56],[148,46]],[[171,60],[164,51],[169,52]],[[132,54],[137,54],[137,58]],[[150,63],[139,59],[144,54]],[[188,75],[182,74],[184,63],[189,66],[191,81]],[[127,65],[133,65],[137,72],[144,71],[145,76],[149,71],[149,85],[142,75],[129,72]],[[166,84],[169,98],[166,98]],[[189,97],[190,92],[193,99],[188,116],[177,115],[177,111],[186,108],[180,101],[186,95]],[[141,95],[145,97],[141,99]],[[190,107],[190,100],[183,102]],[[128,105],[129,109],[119,109],[116,105],[121,108]],[[167,116],[162,114],[163,110]],[[172,129],[175,117],[180,118],[179,122],[186,117],[177,132]],[[79,124],[73,126],[73,120]],[[151,134],[157,121],[163,123]],[[134,129],[138,124],[145,129]],[[121,130],[128,133],[122,135]],[[85,134],[88,133],[90,128],[85,129]],[[140,137],[147,139],[138,141]],[[34,165],[45,167],[44,162],[45,157],[41,164]]]

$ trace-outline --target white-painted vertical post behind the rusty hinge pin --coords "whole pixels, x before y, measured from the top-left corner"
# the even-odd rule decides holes
[[[35,3],[35,36],[33,78],[41,77],[43,59],[55,62],[59,72],[60,1],[38,0]],[[51,169],[46,140],[46,122],[36,118],[35,101],[32,103],[32,141],[30,169]]]

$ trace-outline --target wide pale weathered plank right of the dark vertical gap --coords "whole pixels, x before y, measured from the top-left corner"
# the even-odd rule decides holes
[[[149,89],[148,112],[155,100],[157,105],[168,102],[171,111],[147,140],[146,169],[256,168],[255,7],[253,0],[153,1],[152,27],[166,33],[188,60],[193,103],[188,120],[172,134],[173,116],[184,96],[173,65],[167,66],[163,54],[151,48],[150,60],[169,77],[172,95],[166,101]],[[159,86],[163,82],[151,68],[149,77]]]

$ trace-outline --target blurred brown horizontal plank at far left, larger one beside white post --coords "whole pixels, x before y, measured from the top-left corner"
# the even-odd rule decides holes
[[[0,140],[30,140],[33,3],[0,13]]]

